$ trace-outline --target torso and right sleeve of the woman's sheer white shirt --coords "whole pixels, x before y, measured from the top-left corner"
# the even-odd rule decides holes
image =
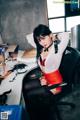
[[[69,42],[69,33],[67,32],[60,33],[58,35],[58,38],[61,40],[61,42],[58,44],[58,52],[55,53],[54,42],[53,42],[53,45],[51,46],[49,54],[47,55],[47,58],[45,60],[45,66],[44,66],[45,73],[54,72],[59,69],[63,52],[66,49]],[[42,69],[43,66],[40,63],[40,60],[38,60],[38,63]]]

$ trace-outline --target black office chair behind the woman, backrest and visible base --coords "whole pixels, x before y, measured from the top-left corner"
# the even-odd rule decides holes
[[[59,68],[63,81],[67,83],[66,86],[62,87],[62,92],[59,94],[58,99],[64,98],[65,96],[71,94],[76,84],[79,83],[79,71],[80,71],[80,53],[78,50],[67,47],[61,61]],[[75,107],[74,103],[64,101],[59,102],[59,105],[68,105],[71,108]]]

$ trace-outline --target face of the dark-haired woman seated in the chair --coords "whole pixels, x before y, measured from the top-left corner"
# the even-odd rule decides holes
[[[46,36],[40,36],[40,39],[38,41],[42,47],[47,48],[53,42],[53,37],[51,34]]]

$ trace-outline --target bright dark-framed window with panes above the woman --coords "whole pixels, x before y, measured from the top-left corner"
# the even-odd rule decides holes
[[[47,0],[47,6],[49,27],[53,33],[71,31],[71,27],[80,24],[79,0]]]

